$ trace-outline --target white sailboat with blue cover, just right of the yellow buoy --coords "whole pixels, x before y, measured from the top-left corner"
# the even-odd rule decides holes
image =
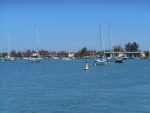
[[[102,44],[102,28],[100,24],[100,49],[101,53],[100,56],[95,60],[95,65],[105,65],[107,63],[105,55],[102,55],[102,50],[103,50],[103,44]]]

